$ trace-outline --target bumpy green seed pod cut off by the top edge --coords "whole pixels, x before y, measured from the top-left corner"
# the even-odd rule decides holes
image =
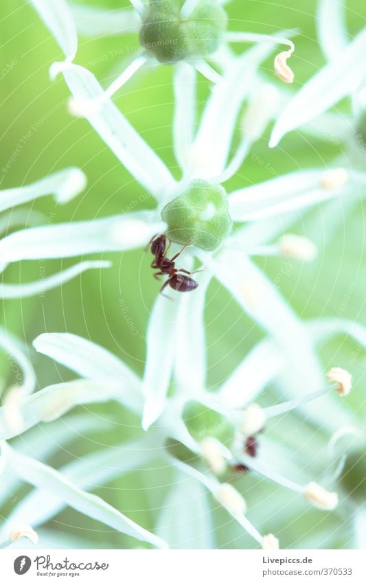
[[[184,0],[150,0],[140,31],[142,47],[160,62],[172,63],[216,51],[227,26],[227,15],[216,0],[201,0],[188,18]]]

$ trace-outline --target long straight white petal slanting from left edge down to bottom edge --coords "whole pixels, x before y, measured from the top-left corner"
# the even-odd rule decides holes
[[[52,492],[52,494],[64,500],[67,505],[73,507],[78,512],[86,514],[117,531],[149,542],[155,547],[167,547],[161,538],[131,521],[130,518],[124,516],[124,514],[106,503],[99,496],[83,492],[69,481],[69,479],[63,477],[60,472],[54,470],[54,468],[42,464],[41,461],[16,453],[8,445],[3,444],[3,449],[5,450],[9,466],[24,481],[34,485],[36,488],[46,490],[46,492]]]

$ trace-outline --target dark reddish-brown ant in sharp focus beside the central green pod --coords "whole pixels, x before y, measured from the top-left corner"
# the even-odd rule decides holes
[[[179,292],[193,291],[198,287],[197,282],[195,282],[192,277],[188,277],[188,275],[192,275],[192,273],[197,273],[196,271],[186,271],[185,269],[176,269],[175,267],[176,258],[181,255],[188,244],[190,244],[190,241],[187,241],[181,251],[176,253],[172,259],[169,259],[166,255],[170,248],[171,241],[169,241],[167,247],[167,237],[165,235],[155,235],[150,240],[148,247],[150,247],[152,255],[155,255],[155,259],[152,260],[151,266],[153,269],[160,269],[160,271],[154,273],[154,277],[159,279],[160,275],[168,275],[168,279],[163,283],[163,286],[161,286],[160,293],[163,293],[163,290],[168,285]],[[146,249],[148,249],[148,247],[146,247]]]

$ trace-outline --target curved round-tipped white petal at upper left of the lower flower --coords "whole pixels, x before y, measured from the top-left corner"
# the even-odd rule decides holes
[[[135,373],[108,350],[69,333],[41,334],[33,342],[37,352],[93,381],[110,380],[119,385],[119,396],[126,407],[140,411],[141,381]],[[108,383],[106,383],[108,384]]]

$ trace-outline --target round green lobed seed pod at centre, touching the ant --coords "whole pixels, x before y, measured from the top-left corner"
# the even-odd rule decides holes
[[[214,251],[229,235],[232,221],[225,188],[204,180],[192,181],[185,192],[163,208],[167,236],[175,243]]]

